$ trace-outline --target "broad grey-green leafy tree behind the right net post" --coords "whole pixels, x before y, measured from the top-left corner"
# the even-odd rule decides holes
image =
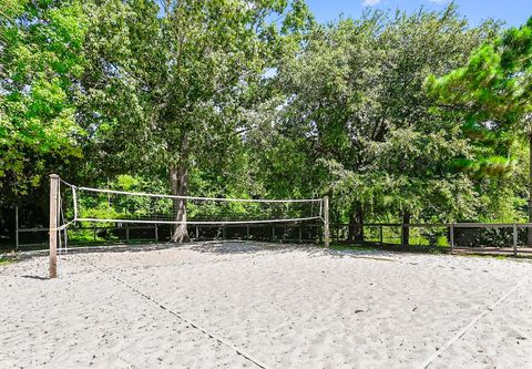
[[[446,180],[449,188],[454,181],[466,184],[452,173],[418,166],[423,155],[407,155],[408,147],[398,137],[419,139],[412,145],[433,139],[431,144],[446,150],[457,143],[441,143],[438,135],[452,126],[432,114],[434,100],[423,89],[424,80],[461,65],[494,30],[492,22],[469,29],[453,4],[442,12],[420,10],[411,16],[372,12],[361,20],[318,27],[304,53],[279,69],[287,96],[279,131],[299,135],[300,148],[308,147],[311,162],[321,163],[316,171],[328,171],[318,177],[336,198],[341,197],[336,211],[347,215],[352,239],[364,239],[361,225],[368,216],[399,212],[408,219],[421,214],[418,205],[427,201],[423,181],[436,185]],[[397,175],[386,174],[391,154],[406,162],[401,173],[393,171]],[[439,167],[450,171],[448,161],[459,155],[460,150],[437,156],[442,161]],[[391,189],[397,195],[393,202]]]

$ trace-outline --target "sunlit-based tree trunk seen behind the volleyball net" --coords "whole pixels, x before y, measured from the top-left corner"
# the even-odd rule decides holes
[[[188,194],[188,140],[182,141],[180,164],[170,168],[170,183],[172,195],[186,196]],[[173,198],[175,226],[172,235],[174,243],[187,243],[191,240],[186,230],[186,199]]]

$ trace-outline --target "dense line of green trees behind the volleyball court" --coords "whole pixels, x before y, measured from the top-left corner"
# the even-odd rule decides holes
[[[352,239],[365,222],[532,221],[531,81],[532,19],[473,27],[454,4],[320,24],[303,0],[0,0],[0,207],[42,205],[57,172],[328,194]]]

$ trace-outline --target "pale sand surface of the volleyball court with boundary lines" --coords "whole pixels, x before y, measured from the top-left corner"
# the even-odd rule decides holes
[[[529,262],[206,243],[47,273],[0,266],[0,368],[532,368]]]

